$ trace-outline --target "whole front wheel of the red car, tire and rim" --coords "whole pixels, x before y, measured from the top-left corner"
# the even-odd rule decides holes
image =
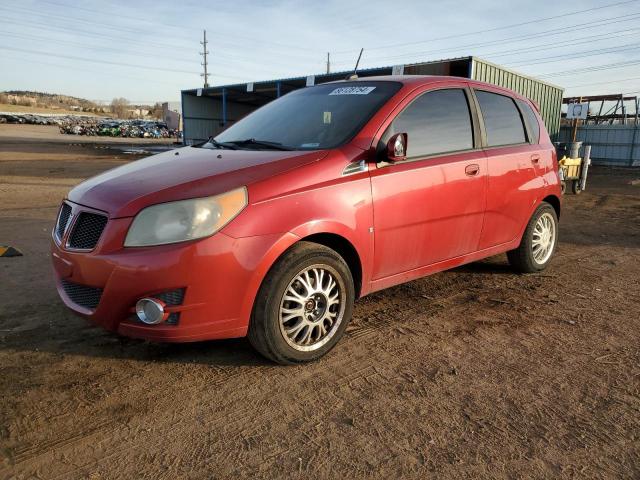
[[[344,259],[323,245],[300,242],[265,277],[253,307],[249,341],[284,365],[316,360],[344,333],[354,299]]]

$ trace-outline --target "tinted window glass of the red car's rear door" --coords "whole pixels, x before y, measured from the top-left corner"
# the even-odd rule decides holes
[[[476,90],[490,147],[526,142],[524,125],[513,99]]]

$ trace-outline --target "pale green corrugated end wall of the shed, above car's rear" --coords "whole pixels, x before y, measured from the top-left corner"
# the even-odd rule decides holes
[[[524,95],[540,106],[551,140],[557,140],[560,133],[560,109],[562,108],[562,88],[520,75],[494,65],[486,60],[473,58],[471,79],[492,83]]]

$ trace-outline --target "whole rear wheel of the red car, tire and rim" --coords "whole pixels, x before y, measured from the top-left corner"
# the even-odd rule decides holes
[[[531,216],[518,248],[507,252],[509,263],[523,273],[544,270],[558,243],[558,216],[543,202]]]

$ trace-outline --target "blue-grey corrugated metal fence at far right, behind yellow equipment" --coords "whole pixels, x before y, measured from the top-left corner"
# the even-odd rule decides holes
[[[572,127],[560,128],[560,142],[571,141]],[[640,166],[640,125],[581,125],[576,136],[591,145],[595,165]]]

